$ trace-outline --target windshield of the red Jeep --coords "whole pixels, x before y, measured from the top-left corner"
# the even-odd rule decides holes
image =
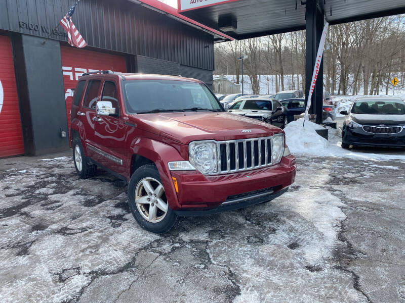
[[[215,96],[203,84],[175,80],[132,80],[123,83],[128,114],[223,111]]]

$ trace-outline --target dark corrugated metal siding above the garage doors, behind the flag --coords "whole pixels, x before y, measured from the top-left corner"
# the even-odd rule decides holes
[[[74,2],[0,0],[0,29],[46,37]],[[89,46],[214,69],[213,36],[126,0],[81,0],[72,19]]]

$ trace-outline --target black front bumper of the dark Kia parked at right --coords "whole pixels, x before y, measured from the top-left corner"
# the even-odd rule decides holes
[[[343,129],[342,142],[359,146],[393,146],[405,147],[405,129],[397,134],[374,134],[366,132],[362,127]]]

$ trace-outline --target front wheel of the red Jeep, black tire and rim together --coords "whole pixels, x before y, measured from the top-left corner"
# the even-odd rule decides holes
[[[128,184],[128,203],[140,226],[153,233],[165,233],[176,223],[161,184],[159,172],[153,164],[138,168]]]

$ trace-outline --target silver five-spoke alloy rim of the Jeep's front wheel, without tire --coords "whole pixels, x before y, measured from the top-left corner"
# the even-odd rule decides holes
[[[163,185],[150,177],[138,182],[135,203],[142,217],[151,223],[163,220],[169,208]]]

